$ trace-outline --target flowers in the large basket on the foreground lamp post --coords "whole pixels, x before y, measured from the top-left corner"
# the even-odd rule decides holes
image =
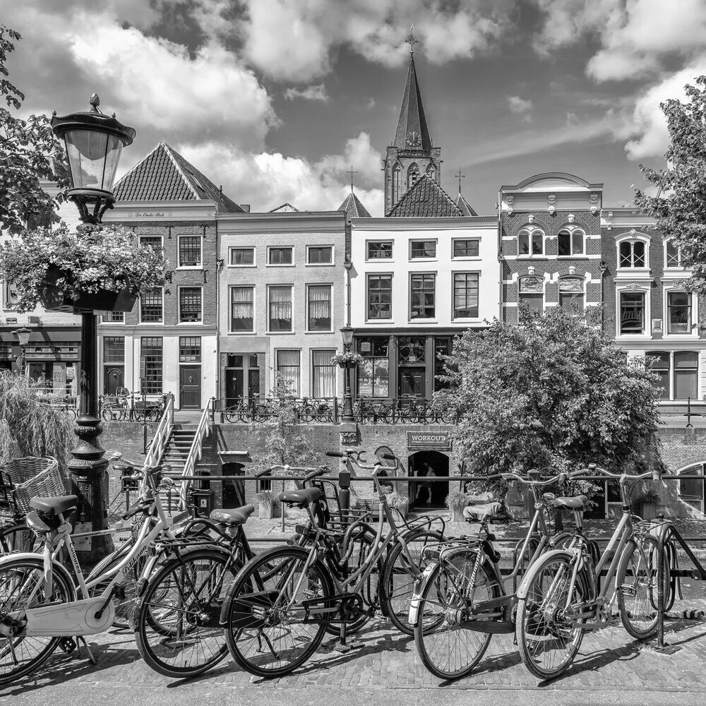
[[[81,226],[71,232],[64,223],[55,230],[25,230],[0,244],[0,280],[17,292],[18,311],[31,311],[52,288],[66,299],[82,294],[128,289],[137,295],[164,285],[162,253],[135,246],[135,234],[123,227]]]

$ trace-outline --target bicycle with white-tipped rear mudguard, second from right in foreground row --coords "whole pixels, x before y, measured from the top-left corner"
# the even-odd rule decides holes
[[[514,473],[489,477],[525,484],[534,496],[534,515],[525,538],[515,546],[514,566],[508,575],[501,575],[500,554],[493,547],[496,537],[489,527],[500,503],[464,508],[467,522],[480,522],[475,536],[424,549],[424,558],[431,563],[415,583],[409,622],[415,626],[414,642],[421,662],[434,676],[467,676],[485,654],[493,634],[515,631],[518,575],[547,548],[561,546],[570,537],[566,533],[551,537],[545,517],[546,493],[542,489],[563,480],[565,474],[556,473],[544,480],[537,470],[528,474],[534,478]],[[506,590],[510,581],[511,593]],[[424,619],[419,620],[419,616]]]

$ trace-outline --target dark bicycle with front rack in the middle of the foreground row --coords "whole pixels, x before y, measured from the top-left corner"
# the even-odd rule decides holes
[[[351,462],[352,452],[328,452],[328,455]],[[397,467],[394,456],[385,457],[394,459]],[[311,657],[326,628],[340,625],[345,640],[348,626],[359,629],[366,623],[376,611],[376,605],[369,600],[368,580],[379,570],[388,548],[391,550],[383,563],[383,580],[378,582],[380,604],[397,628],[412,634],[413,627],[395,613],[390,589],[399,572],[407,575],[409,585],[419,573],[417,558],[409,549],[415,538],[419,539],[419,532],[400,532],[395,525],[378,479],[381,466],[363,464],[360,454],[355,462],[372,470],[380,498],[375,540],[361,566],[352,571],[343,568],[332,549],[330,533],[318,525],[311,503],[321,498],[321,491],[316,488],[285,491],[280,493],[282,503],[306,509],[313,534],[309,538],[311,544],[263,552],[246,564],[228,593],[222,611],[228,647],[236,662],[251,674],[263,677],[289,674]],[[390,523],[384,536],[383,513]],[[354,522],[347,534],[350,536],[360,526],[361,523]],[[424,532],[438,542],[438,532]]]

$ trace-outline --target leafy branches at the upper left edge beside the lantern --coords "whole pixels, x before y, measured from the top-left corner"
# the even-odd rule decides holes
[[[70,188],[64,145],[54,136],[46,115],[23,120],[11,113],[19,110],[25,95],[8,80],[7,56],[14,51],[19,32],[0,24],[0,229],[15,234],[26,223],[58,221],[56,201],[42,189],[40,179]]]

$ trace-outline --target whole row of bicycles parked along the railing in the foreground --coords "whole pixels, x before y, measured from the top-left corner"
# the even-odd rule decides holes
[[[464,516],[479,523],[478,532],[447,537],[441,518],[406,522],[393,513],[380,462],[366,464],[363,453],[350,451],[329,455],[340,457],[342,472],[371,472],[377,522],[336,508],[336,493],[327,494],[335,480],[323,478],[324,467],[275,467],[304,474],[301,488],[279,496],[304,515],[285,546],[260,554],[244,531],[250,505],[172,525],[160,498],[174,481],[157,481],[160,466],[140,469],[116,457],[114,467],[140,482],[139,500],[124,515],[138,520],[131,539],[84,577],[73,549],[78,536],[66,521],[76,496],[32,498],[22,529],[5,527],[0,535],[15,550],[0,558],[0,684],[112,625],[129,626],[145,662],[174,678],[202,674],[228,652],[251,674],[283,676],[311,657],[325,633],[345,641],[376,614],[414,635],[427,669],[447,679],[471,674],[494,633],[513,632],[532,674],[559,676],[583,633],[609,625],[615,604],[634,637],[656,630],[661,545],[626,500],[633,481],[657,474],[590,466],[491,477],[524,484],[534,498],[513,569],[503,576],[490,525],[498,503],[469,505]],[[398,467],[394,456],[383,458]],[[587,498],[545,492],[587,474],[617,479],[621,488],[625,509],[603,554],[582,532]],[[552,535],[549,508],[571,510],[575,531]],[[674,601],[670,586],[662,586],[667,603]]]

